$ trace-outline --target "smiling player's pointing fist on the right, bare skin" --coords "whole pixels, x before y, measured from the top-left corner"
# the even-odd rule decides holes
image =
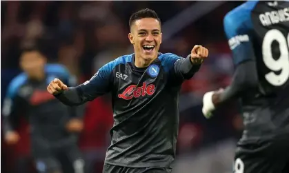
[[[201,45],[195,45],[190,52],[190,60],[192,63],[202,63],[203,59],[208,57],[209,51]]]

